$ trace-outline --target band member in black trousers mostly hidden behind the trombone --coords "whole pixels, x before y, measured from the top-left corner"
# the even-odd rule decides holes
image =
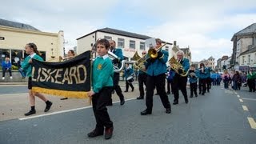
[[[146,51],[142,51],[142,57],[146,55]],[[139,69],[138,71],[138,90],[139,90],[139,97],[137,99],[143,99],[144,98],[144,87],[143,83],[146,86],[146,67],[145,65],[142,66],[142,69]]]

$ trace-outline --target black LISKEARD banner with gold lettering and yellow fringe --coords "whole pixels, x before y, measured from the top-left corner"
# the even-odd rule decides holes
[[[90,51],[64,62],[40,62],[32,59],[32,91],[86,98],[90,91]]]

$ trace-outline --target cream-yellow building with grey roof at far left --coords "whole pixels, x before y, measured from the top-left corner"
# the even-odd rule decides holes
[[[63,56],[64,33],[42,32],[32,26],[0,19],[0,65],[6,57],[15,66],[20,58],[26,58],[24,46],[34,42],[42,58],[46,61],[58,61]]]

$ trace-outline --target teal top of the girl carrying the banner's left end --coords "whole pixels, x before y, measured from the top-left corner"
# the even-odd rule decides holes
[[[43,59],[38,54],[35,54],[33,58],[38,61],[43,61]],[[22,63],[22,70],[25,71],[27,77],[32,77],[32,65],[29,62],[30,59],[31,59],[31,57],[29,55],[24,59],[24,61]]]

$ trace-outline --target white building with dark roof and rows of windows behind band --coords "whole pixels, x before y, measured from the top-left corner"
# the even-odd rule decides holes
[[[85,52],[86,50],[91,50],[94,43],[98,38],[106,38],[109,40],[114,40],[118,48],[122,48],[122,53],[125,58],[132,58],[136,51],[138,54],[142,56],[143,50],[148,50],[149,48],[146,46],[145,40],[151,38],[142,34],[130,33],[123,30],[115,30],[111,28],[103,28],[99,30],[95,30],[90,34],[86,34],[81,38],[77,38],[78,41],[78,54]],[[169,58],[171,58],[171,46],[172,43],[167,42],[166,46],[163,47],[163,50],[169,52]]]

